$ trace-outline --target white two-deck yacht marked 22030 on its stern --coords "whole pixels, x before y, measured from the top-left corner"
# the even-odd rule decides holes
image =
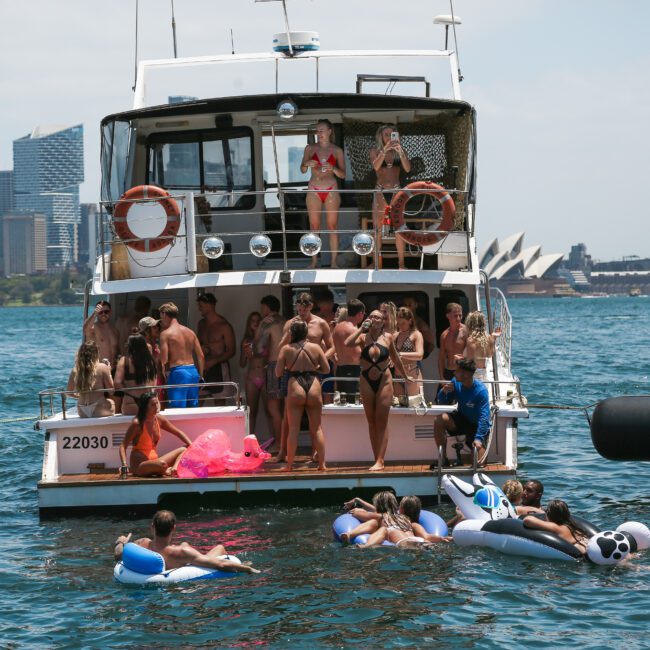
[[[518,420],[528,412],[511,369],[505,298],[490,289],[478,267],[476,114],[461,99],[456,54],[453,49],[326,51],[319,49],[313,33],[284,36],[268,52],[140,63],[133,109],[109,115],[101,124],[102,223],[85,314],[98,299],[107,298],[115,316],[125,315],[138,296],[146,295],[153,308],[174,302],[181,322],[196,329],[197,297],[211,292],[218,297],[219,313],[237,333],[239,350],[248,314],[267,295],[278,298],[285,317],[293,315],[295,297],[303,291],[329,289],[339,304],[358,298],[368,310],[387,300],[400,305],[409,295],[437,341],[448,325],[449,302],[461,304],[465,313],[482,308],[490,330],[502,332],[488,364],[492,426],[484,464],[484,471],[501,484],[516,473]],[[434,70],[440,65],[451,82],[446,89],[436,87],[442,77]],[[191,66],[207,67],[215,75],[236,68],[246,82],[236,96],[147,104],[150,75],[171,70],[178,79]],[[259,85],[263,92],[254,88]],[[334,140],[345,153],[340,268],[328,268],[325,226],[322,232],[310,232],[308,176],[300,172],[302,152],[314,142],[319,119],[333,124]],[[410,173],[401,178],[403,187],[412,186],[405,219],[407,234],[416,236],[407,238],[424,246],[408,245],[406,270],[398,270],[394,252],[395,237],[402,235],[373,226],[375,176],[369,150],[384,123],[397,125],[412,161]],[[146,198],[135,191],[128,196],[144,198],[123,198],[141,186],[163,188],[170,196],[154,192]],[[438,191],[426,190],[436,186]],[[453,199],[451,223],[443,219],[449,216],[448,206],[439,200],[443,197],[444,203],[446,193]],[[322,264],[310,268],[310,254],[318,249]],[[44,434],[40,512],[151,511],[179,503],[210,507],[304,499],[340,503],[351,494],[379,489],[439,499],[443,468],[433,424],[437,415],[454,407],[435,403],[438,350],[436,345],[421,362],[424,402],[391,409],[386,468],[380,472],[368,470],[373,454],[358,398],[337,399],[323,408],[327,472],[307,462],[310,440],[302,434],[305,462],[291,472],[267,462],[249,474],[137,478],[122,477],[119,471],[118,448],[131,416],[82,418],[70,393],[44,390],[37,423]],[[228,403],[167,408],[164,414],[192,439],[207,429],[222,429],[233,450],[240,451],[244,436],[253,431],[236,358]],[[449,438],[447,456],[452,459],[455,442]],[[159,453],[172,444],[163,435]],[[471,474],[476,462],[444,472]]]

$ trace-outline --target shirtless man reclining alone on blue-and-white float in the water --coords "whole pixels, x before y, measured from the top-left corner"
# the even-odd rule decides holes
[[[165,570],[178,569],[186,564],[205,567],[206,569],[216,569],[219,571],[228,571],[233,573],[260,573],[248,564],[239,564],[232,560],[227,560],[223,556],[227,555],[224,546],[219,544],[210,549],[207,553],[190,546],[187,542],[182,544],[172,544],[172,537],[176,529],[176,516],[170,510],[159,510],[151,521],[151,533],[153,539],[142,537],[135,541],[135,544],[148,548],[150,551],[160,553],[165,560]],[[120,535],[115,540],[114,556],[116,562],[122,559],[124,545],[131,541],[131,533]]]

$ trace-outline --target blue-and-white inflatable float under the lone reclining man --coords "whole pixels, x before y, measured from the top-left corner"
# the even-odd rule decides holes
[[[234,555],[222,555],[219,559],[241,564]],[[232,578],[236,575],[237,573],[232,571],[206,569],[191,564],[166,571],[165,560],[160,553],[150,551],[133,542],[124,545],[122,560],[115,565],[113,570],[115,580],[125,585],[173,584],[189,580]]]

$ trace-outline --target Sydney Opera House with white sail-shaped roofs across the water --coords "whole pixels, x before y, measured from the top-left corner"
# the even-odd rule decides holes
[[[564,257],[561,253],[542,254],[540,245],[524,248],[524,232],[505,239],[494,238],[479,255],[479,265],[490,284],[509,295],[563,295],[571,291],[558,276]]]

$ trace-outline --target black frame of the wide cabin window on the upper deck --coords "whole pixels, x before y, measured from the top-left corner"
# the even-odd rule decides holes
[[[204,170],[204,156],[203,156],[203,143],[204,142],[215,142],[221,140],[226,141],[226,140],[231,140],[231,139],[237,139],[241,137],[247,137],[248,142],[249,142],[249,151],[250,151],[250,170],[251,170],[251,178],[250,178],[250,186],[246,189],[240,189],[240,190],[235,190],[232,188],[231,190],[223,190],[224,192],[234,192],[237,191],[238,193],[254,193],[256,192],[257,189],[257,178],[255,174],[255,133],[253,129],[251,129],[249,126],[233,126],[233,127],[228,127],[226,129],[191,129],[191,130],[183,130],[183,131],[157,131],[156,133],[151,133],[147,136],[146,141],[145,141],[145,147],[146,147],[146,160],[145,160],[145,165],[146,165],[146,184],[149,184],[151,182],[151,155],[152,155],[152,145],[154,144],[198,144],[199,146],[199,193],[200,194],[205,194],[206,192],[214,191],[214,190],[208,190],[206,189],[206,184],[205,184],[205,170]],[[226,159],[227,156],[224,155],[224,159]],[[168,188],[165,188],[168,189]],[[219,190],[222,191],[222,190]],[[241,201],[237,202],[237,205],[235,206],[225,206],[225,207],[211,207],[211,211],[219,211],[219,212],[224,212],[224,211],[229,211],[229,210],[237,210],[237,211],[242,211],[242,210],[254,210],[255,209],[255,201],[251,201],[250,205],[247,203],[242,204]]]

